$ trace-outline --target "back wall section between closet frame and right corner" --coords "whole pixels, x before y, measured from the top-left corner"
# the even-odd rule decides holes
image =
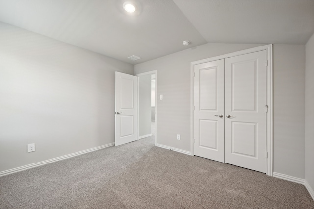
[[[304,179],[305,46],[274,45],[274,172]]]

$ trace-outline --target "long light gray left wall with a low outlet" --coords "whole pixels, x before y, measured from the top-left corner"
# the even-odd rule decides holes
[[[115,71],[134,67],[0,22],[0,171],[113,143]]]

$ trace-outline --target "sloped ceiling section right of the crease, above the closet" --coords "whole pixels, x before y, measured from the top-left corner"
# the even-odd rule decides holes
[[[209,43],[306,44],[314,0],[173,0]]]

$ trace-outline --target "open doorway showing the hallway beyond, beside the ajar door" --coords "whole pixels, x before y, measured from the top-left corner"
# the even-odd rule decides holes
[[[153,139],[157,143],[156,70],[138,77],[138,139]]]

